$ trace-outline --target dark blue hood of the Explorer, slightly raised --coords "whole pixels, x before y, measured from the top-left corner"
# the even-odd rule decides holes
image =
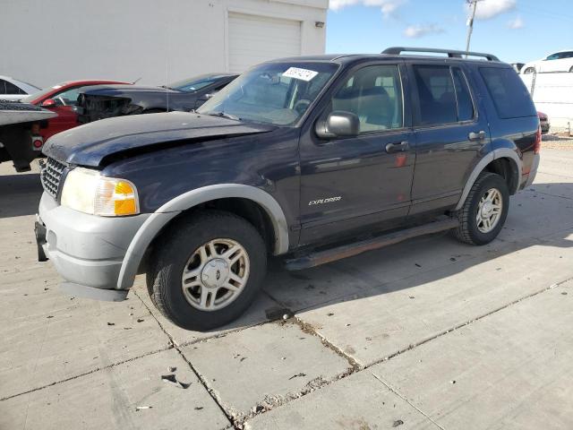
[[[121,152],[153,147],[160,150],[179,142],[266,133],[275,128],[187,112],[118,116],[57,133],[42,151],[58,161],[98,168],[105,165],[106,158]]]

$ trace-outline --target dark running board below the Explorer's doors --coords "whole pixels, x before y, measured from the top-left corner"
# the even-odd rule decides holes
[[[430,235],[440,231],[449,230],[458,227],[458,219],[446,218],[439,219],[423,226],[406,228],[387,235],[366,239],[354,244],[342,245],[336,248],[326,249],[306,254],[302,257],[288,259],[285,262],[286,270],[302,271],[311,267],[320,266],[327,262],[336,262],[337,260],[352,257],[374,249],[383,248],[384,246],[398,244],[406,239],[416,236]]]

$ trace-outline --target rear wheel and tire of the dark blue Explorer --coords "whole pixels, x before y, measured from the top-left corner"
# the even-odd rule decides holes
[[[497,190],[497,194],[492,192],[492,190]],[[489,194],[488,194],[489,193]],[[491,225],[485,225],[483,221],[478,224],[477,216],[478,210],[480,209],[480,202],[484,196],[495,195],[498,198],[496,202],[500,202],[500,211],[498,213],[495,221],[487,221]],[[497,205],[490,205],[490,207],[483,208],[483,213],[488,213],[489,208],[493,208]],[[493,215],[493,209],[492,217]],[[505,179],[500,175],[496,175],[490,172],[482,172],[475,180],[470,192],[467,194],[466,202],[464,206],[454,213],[454,216],[458,218],[459,225],[458,228],[453,230],[454,236],[466,244],[472,245],[486,245],[492,242],[495,237],[500,234],[501,228],[505,223],[505,219],[508,216],[509,211],[509,190]],[[488,231],[488,228],[489,229]]]

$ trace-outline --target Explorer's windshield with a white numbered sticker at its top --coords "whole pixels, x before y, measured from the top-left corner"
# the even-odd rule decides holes
[[[273,125],[295,125],[337,71],[332,63],[266,63],[245,72],[197,109]]]

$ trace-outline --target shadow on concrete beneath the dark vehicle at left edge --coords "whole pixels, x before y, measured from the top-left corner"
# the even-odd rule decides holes
[[[0,176],[0,219],[33,215],[42,195],[38,173]]]

